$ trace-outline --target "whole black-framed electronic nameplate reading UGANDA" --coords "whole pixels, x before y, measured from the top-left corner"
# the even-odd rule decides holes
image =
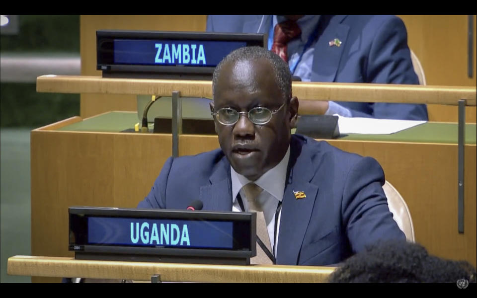
[[[246,265],[256,252],[252,213],[70,207],[69,218],[76,259]]]

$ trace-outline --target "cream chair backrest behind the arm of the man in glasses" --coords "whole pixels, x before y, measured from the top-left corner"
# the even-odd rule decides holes
[[[397,226],[406,235],[407,242],[415,242],[414,226],[406,202],[397,189],[388,181],[383,185],[383,190],[388,198],[389,210],[393,213],[393,219],[396,221]]]

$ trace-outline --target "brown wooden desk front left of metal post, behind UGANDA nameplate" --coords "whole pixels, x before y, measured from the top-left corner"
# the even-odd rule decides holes
[[[73,256],[68,207],[136,207],[171,155],[172,140],[159,134],[34,130],[30,147],[32,255]]]

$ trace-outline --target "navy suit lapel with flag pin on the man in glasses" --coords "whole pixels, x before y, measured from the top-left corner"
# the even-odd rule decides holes
[[[315,170],[308,147],[292,137],[287,185],[282,202],[278,236],[277,264],[296,265],[313,211],[318,186],[310,183]],[[303,191],[297,199],[293,191]]]

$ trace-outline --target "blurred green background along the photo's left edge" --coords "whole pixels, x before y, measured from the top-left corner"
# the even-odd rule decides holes
[[[2,59],[79,59],[79,15],[18,15],[17,24],[16,34],[0,35]],[[79,94],[37,93],[34,81],[4,80],[0,83],[0,282],[29,283],[30,277],[7,275],[6,265],[8,257],[31,254],[30,131],[78,116]]]

